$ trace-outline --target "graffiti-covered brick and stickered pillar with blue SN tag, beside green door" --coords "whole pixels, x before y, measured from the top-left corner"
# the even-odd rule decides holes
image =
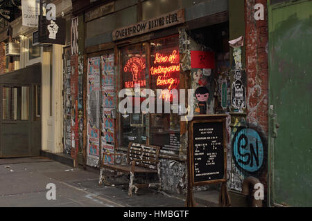
[[[262,3],[266,10],[266,1],[244,1],[244,46],[233,49],[231,71],[235,113],[231,114],[228,184],[236,191],[241,191],[248,176],[257,177],[266,189],[268,173],[268,23],[266,17],[263,21],[254,19],[254,6]],[[245,81],[240,82],[244,76]]]

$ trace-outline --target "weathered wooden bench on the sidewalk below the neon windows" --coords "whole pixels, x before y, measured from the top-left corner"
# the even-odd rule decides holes
[[[135,193],[139,188],[143,187],[154,187],[158,186],[160,190],[161,178],[159,169],[159,146],[151,146],[146,144],[130,143],[128,146],[127,162],[126,164],[104,164],[105,155],[120,155],[121,157],[125,154],[118,153],[103,153],[101,171],[98,183],[101,185],[103,182],[107,183],[104,169],[112,171],[119,171],[122,173],[130,173],[129,190],[128,195],[132,196],[132,189],[135,189]],[[159,179],[158,183],[146,183],[146,184],[134,184],[135,173],[156,173]]]

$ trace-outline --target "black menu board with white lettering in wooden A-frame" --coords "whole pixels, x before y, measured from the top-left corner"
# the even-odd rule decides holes
[[[226,181],[226,115],[200,115],[190,122],[189,169],[193,185]]]

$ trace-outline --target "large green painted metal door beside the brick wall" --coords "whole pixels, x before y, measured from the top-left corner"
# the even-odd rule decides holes
[[[270,202],[312,206],[312,1],[274,2],[281,1],[268,2]]]

